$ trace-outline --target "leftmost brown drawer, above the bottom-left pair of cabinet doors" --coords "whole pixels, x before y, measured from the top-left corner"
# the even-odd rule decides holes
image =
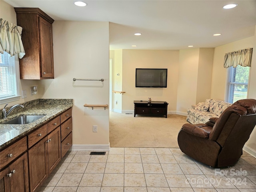
[[[2,169],[15,158],[17,158],[20,154],[26,151],[27,148],[27,137],[24,137],[21,140],[9,146],[8,148],[2,150],[0,152],[0,169]]]

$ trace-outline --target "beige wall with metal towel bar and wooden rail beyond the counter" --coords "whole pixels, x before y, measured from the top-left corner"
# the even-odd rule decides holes
[[[41,80],[40,93],[42,98],[74,99],[74,146],[109,144],[109,110],[84,107],[109,103],[108,30],[108,22],[53,23],[55,79]],[[98,125],[98,132],[92,132],[93,125]]]

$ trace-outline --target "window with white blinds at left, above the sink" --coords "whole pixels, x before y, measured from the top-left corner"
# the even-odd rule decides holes
[[[19,98],[17,86],[17,56],[10,57],[10,54],[0,53],[0,100],[14,101]]]

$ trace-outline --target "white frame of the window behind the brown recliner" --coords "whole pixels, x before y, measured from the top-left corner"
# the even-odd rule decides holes
[[[240,66],[242,67],[242,66]],[[241,82],[232,82],[231,79],[234,78],[234,70],[236,70],[236,68],[234,67],[229,67],[227,70],[227,91],[226,91],[226,102],[229,103],[234,103],[234,91],[232,92],[233,94],[233,102],[230,101],[230,93],[231,93],[231,85],[247,85],[247,94],[246,94],[246,98],[248,98],[248,93],[249,93],[249,84],[250,84],[250,73],[251,73],[251,67],[249,67],[249,74],[248,74],[248,83],[241,83]]]

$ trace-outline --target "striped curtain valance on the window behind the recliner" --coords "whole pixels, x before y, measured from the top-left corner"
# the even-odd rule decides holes
[[[238,65],[250,67],[252,62],[252,48],[226,53],[224,56],[224,68]]]

